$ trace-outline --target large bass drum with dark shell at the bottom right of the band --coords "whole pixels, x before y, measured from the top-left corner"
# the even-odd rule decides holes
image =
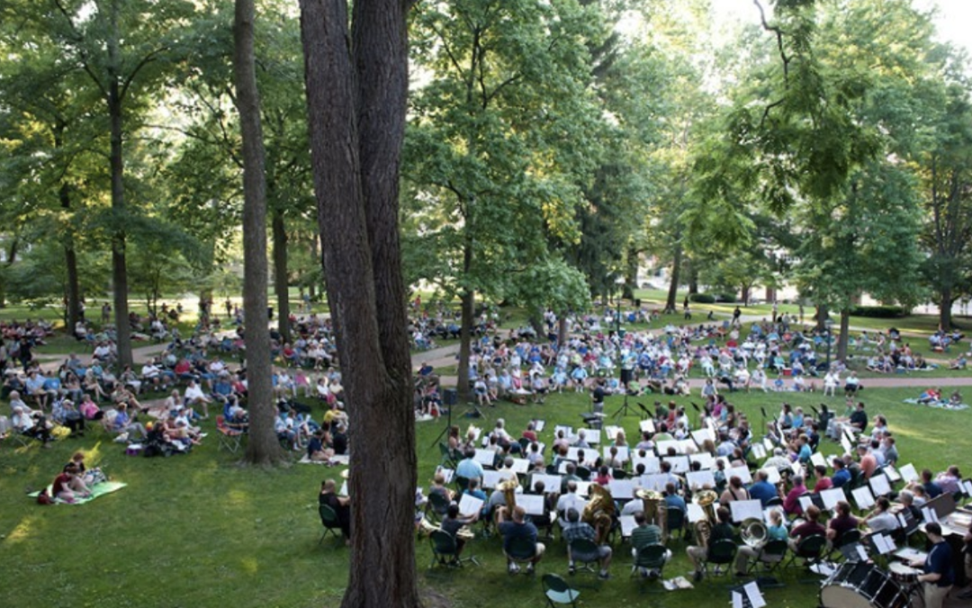
[[[823,582],[823,608],[905,608],[908,594],[877,566],[864,561],[845,562]]]

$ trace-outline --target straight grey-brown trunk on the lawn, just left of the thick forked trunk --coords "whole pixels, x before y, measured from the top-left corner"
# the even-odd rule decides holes
[[[233,77],[243,137],[243,310],[246,315],[247,399],[250,436],[246,461],[274,464],[284,453],[273,430],[270,332],[266,319],[266,176],[260,91],[254,51],[253,0],[236,0],[233,20]]]

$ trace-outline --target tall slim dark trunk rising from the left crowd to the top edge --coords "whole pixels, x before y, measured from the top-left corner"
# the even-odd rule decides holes
[[[131,329],[128,326],[128,269],[125,266],[124,232],[124,157],[121,148],[122,115],[119,70],[121,56],[117,2],[111,5],[112,32],[108,40],[108,116],[111,137],[112,214],[112,289],[114,291],[116,345],[120,369],[132,364]]]

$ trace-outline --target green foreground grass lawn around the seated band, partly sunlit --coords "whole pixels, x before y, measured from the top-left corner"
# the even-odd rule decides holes
[[[915,389],[868,389],[863,397],[870,413],[883,412],[899,440],[902,463],[935,471],[963,460],[969,453],[965,429],[972,411],[938,411],[908,406]],[[731,401],[760,423],[759,408],[771,415],[782,399],[809,411],[821,399],[816,395],[734,394]],[[680,399],[687,405],[688,399]],[[695,398],[695,401],[699,401]],[[830,400],[843,410],[842,399]],[[650,406],[650,400],[642,400]],[[620,407],[618,398],[608,401],[608,412]],[[516,435],[534,417],[547,428],[542,440],[549,444],[555,423],[580,422],[586,395],[551,396],[545,405],[517,407],[502,403],[487,409],[475,420],[488,429],[497,416]],[[6,412],[6,404],[2,406]],[[465,431],[469,419],[455,422]],[[316,414],[320,414],[317,408]],[[629,438],[636,437],[638,419],[621,420]],[[212,430],[212,422],[205,423]],[[434,446],[444,421],[423,422],[417,427],[419,484],[428,487],[439,453]],[[93,435],[93,436],[92,436]],[[218,451],[211,434],[205,445],[189,455],[172,458],[141,458],[123,455],[121,446],[88,434],[66,440],[50,450],[38,447],[14,449],[0,445],[0,606],[336,606],[346,582],[348,550],[332,538],[318,545],[321,525],[317,514],[317,488],[338,469],[294,465],[264,471],[241,468],[235,457]],[[110,476],[128,483],[121,491],[83,506],[41,507],[24,495],[27,488],[50,483],[55,472],[78,448],[84,448],[90,464],[100,464]],[[833,452],[836,444],[824,442]],[[394,457],[394,454],[376,454]],[[684,575],[688,563],[685,543],[673,541],[676,558],[666,576]],[[704,582],[701,589],[664,594],[642,594],[628,578],[627,548],[616,547],[611,570],[613,580],[597,584],[577,575],[588,606],[632,604],[697,607],[729,601],[724,582]],[[417,544],[420,584],[449,597],[459,607],[495,607],[503,592],[513,605],[541,603],[538,577],[509,577],[504,572],[500,540],[477,539],[467,548],[481,567],[461,572],[427,569],[428,540]],[[562,542],[548,547],[538,571],[566,575],[567,560]],[[786,588],[771,590],[773,606],[816,606],[817,587],[801,585],[803,572],[785,575]]]

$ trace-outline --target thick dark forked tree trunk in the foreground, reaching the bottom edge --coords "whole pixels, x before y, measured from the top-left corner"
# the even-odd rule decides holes
[[[399,247],[408,88],[401,0],[300,0],[328,301],[352,412],[343,608],[414,608],[415,419]],[[350,53],[349,53],[350,52]],[[389,433],[388,429],[395,429]]]

